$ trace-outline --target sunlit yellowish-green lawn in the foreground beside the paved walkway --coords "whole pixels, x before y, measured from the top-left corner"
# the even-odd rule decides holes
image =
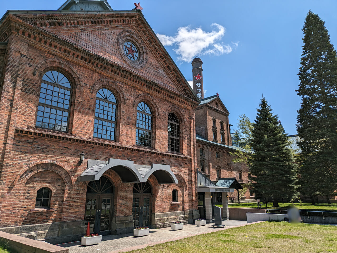
[[[174,231],[173,231],[174,233]],[[158,244],[137,253],[337,252],[337,227],[262,222]]]

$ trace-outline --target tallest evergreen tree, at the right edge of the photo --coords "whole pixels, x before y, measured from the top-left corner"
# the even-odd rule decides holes
[[[324,23],[309,10],[298,74],[300,191],[310,195],[312,204],[315,195],[337,189],[337,61]]]

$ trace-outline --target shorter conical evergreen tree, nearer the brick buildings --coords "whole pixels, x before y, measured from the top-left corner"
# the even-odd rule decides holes
[[[287,147],[288,137],[282,134],[277,115],[272,114],[265,97],[262,97],[250,145],[253,154],[248,158],[251,180],[256,181],[254,193],[257,197],[272,197],[274,207],[277,198],[292,198],[298,193],[297,164],[293,152]]]

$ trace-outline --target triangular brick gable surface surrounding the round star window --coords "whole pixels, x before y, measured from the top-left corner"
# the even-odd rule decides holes
[[[140,75],[141,79],[170,90],[176,93],[177,97],[181,95],[187,97],[193,104],[200,101],[141,11],[84,11],[83,13],[74,11],[69,16],[59,15],[55,11],[43,11],[43,13],[47,12],[49,15],[43,16],[44,20],[41,20],[40,16],[36,18],[36,11],[34,14],[20,14],[17,17],[39,30],[43,29],[67,43],[70,42],[79,49],[92,52],[116,64],[118,68],[125,68],[132,74]],[[146,71],[140,71],[130,64],[125,64],[121,56],[123,51],[116,49],[118,35],[123,34],[124,31],[136,34],[135,36],[139,38],[137,41],[139,46],[145,48],[147,60],[144,69]],[[109,44],[112,46],[110,47]]]

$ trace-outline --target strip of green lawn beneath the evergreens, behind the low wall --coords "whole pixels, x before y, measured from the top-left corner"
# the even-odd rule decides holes
[[[278,203],[279,208],[274,208],[273,203],[268,203],[267,209],[282,209],[286,210],[289,207],[292,207],[292,203]],[[319,203],[318,205],[311,205],[308,203],[303,203],[302,207],[300,207],[299,203],[295,203],[296,207],[301,210],[309,210],[309,211],[329,211],[329,212],[337,212],[337,203],[328,204],[328,203]],[[222,205],[217,205],[218,207],[222,207]],[[235,208],[257,208],[257,203],[240,203],[240,204],[228,204],[228,207],[235,207]],[[266,209],[266,204],[262,204],[262,208]]]

